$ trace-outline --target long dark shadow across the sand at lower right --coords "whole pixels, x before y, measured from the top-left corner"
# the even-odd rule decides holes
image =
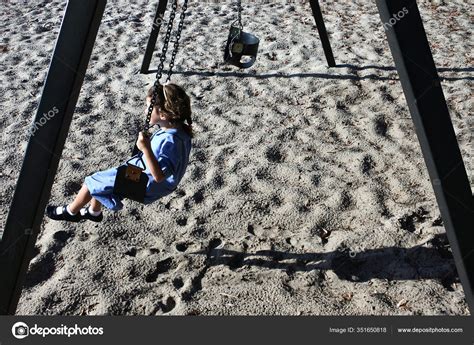
[[[187,255],[206,255],[207,266],[224,265],[230,269],[262,267],[285,271],[310,272],[334,271],[340,279],[351,282],[367,282],[371,279],[418,280],[437,279],[443,286],[458,282],[452,254],[444,244],[445,234],[430,240],[433,248],[417,245],[411,248],[386,247],[351,252],[349,249],[324,253],[289,253],[277,250],[259,250],[255,253],[239,252],[222,248],[190,252]],[[442,245],[440,245],[442,244]],[[429,262],[420,259],[430,258]],[[394,263],[397,263],[394,269]],[[388,269],[387,269],[388,268]]]

